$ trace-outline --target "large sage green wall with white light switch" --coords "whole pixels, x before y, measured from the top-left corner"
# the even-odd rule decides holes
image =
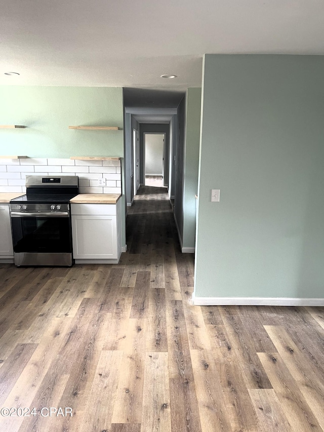
[[[196,297],[324,297],[323,71],[323,56],[205,56]]]

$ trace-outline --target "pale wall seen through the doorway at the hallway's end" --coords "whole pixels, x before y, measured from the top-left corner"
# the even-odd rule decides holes
[[[144,134],[145,137],[145,174],[163,175],[164,135]]]

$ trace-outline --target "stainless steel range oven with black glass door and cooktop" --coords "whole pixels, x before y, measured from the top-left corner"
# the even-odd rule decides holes
[[[77,176],[26,176],[26,195],[10,201],[17,266],[71,266],[70,199]]]

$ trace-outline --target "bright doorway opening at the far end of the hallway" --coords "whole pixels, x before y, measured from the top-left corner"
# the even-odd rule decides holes
[[[164,187],[165,140],[164,133],[144,133],[145,186]]]

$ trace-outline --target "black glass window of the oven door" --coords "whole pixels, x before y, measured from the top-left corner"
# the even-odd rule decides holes
[[[71,252],[68,217],[15,217],[11,222],[16,253]]]

